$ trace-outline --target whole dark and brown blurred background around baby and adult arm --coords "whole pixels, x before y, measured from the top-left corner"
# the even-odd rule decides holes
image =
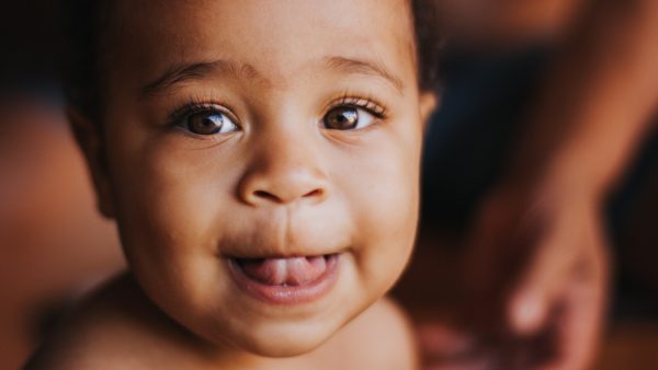
[[[444,0],[441,106],[423,162],[416,256],[394,291],[419,328],[427,369],[457,346],[461,246],[513,160],[557,42],[578,0]],[[5,1],[0,12],[0,369],[19,369],[76,298],[121,270],[113,223],[95,210],[64,115],[64,53],[56,1]],[[634,146],[605,197],[612,282],[595,369],[655,369],[658,348],[658,135]],[[487,310],[487,308],[481,308]],[[486,313],[483,312],[483,315]],[[440,363],[441,362],[441,363]],[[487,368],[489,369],[489,368]]]

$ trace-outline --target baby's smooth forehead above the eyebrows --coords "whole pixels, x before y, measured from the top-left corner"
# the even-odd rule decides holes
[[[416,77],[407,0],[124,0],[115,7],[106,35],[116,51],[105,56],[112,68],[104,70],[135,82],[172,65],[225,59],[284,83],[327,57],[374,59],[402,79]]]

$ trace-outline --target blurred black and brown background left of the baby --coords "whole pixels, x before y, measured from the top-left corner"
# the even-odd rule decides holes
[[[66,308],[120,269],[64,115],[57,1],[0,12],[0,369],[19,369]]]

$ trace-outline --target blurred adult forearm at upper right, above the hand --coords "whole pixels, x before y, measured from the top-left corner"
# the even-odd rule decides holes
[[[658,1],[601,0],[585,10],[547,74],[510,175],[604,195],[658,107]]]

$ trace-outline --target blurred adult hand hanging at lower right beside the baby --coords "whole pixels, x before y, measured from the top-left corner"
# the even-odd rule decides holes
[[[583,369],[592,359],[609,270],[601,205],[564,184],[501,186],[475,220],[464,317],[495,369]]]

